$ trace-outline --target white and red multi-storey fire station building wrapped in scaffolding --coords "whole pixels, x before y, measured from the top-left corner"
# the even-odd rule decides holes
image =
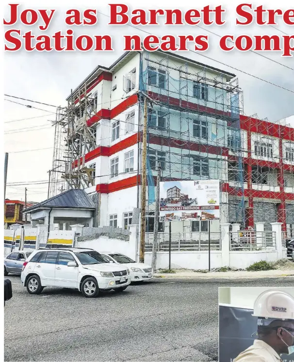
[[[246,117],[234,74],[175,53],[129,51],[110,67],[97,66],[67,102],[56,116],[50,196],[84,188],[97,203],[97,226],[139,223],[146,162],[147,231],[160,165],[161,181],[220,180],[213,230],[220,222],[264,222],[265,230],[281,222],[291,233],[294,129]],[[173,230],[207,231],[207,223],[173,223]]]

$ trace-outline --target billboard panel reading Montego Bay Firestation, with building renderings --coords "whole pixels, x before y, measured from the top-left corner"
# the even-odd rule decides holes
[[[160,183],[160,221],[219,219],[219,180]]]

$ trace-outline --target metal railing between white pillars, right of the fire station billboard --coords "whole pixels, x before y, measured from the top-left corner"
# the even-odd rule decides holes
[[[276,231],[230,231],[231,251],[276,250]]]

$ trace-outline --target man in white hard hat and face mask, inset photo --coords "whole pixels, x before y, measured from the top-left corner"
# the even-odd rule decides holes
[[[254,303],[257,339],[234,362],[280,362],[294,353],[294,298],[281,290],[267,290]]]

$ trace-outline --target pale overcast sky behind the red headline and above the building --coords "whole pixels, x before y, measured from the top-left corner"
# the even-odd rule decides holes
[[[81,2],[70,1],[68,5],[62,1],[42,1],[42,8],[57,9],[54,19],[45,33],[52,34],[59,30],[66,30],[64,23],[65,11],[67,9],[78,8],[82,10]],[[117,3],[117,2],[116,2]],[[126,1],[130,8],[138,8],[138,4],[143,9],[146,5],[138,1]],[[269,26],[250,25],[246,27],[236,27],[235,7],[239,1],[148,1],[149,8],[172,9],[177,8],[179,3],[182,10],[195,7],[201,9],[203,6],[211,4],[217,6],[222,3],[227,10],[227,23],[221,27],[209,26],[207,30],[224,34],[278,34],[283,35],[277,29]],[[263,4],[265,8],[281,9],[291,8],[293,1],[260,1],[255,5]],[[277,5],[278,4],[278,5]],[[109,14],[109,7],[105,1],[87,1],[85,8],[97,8],[104,14]],[[21,9],[38,9],[40,6],[35,2],[22,2]],[[4,9],[4,16],[7,16],[8,5]],[[180,55],[195,59],[196,61],[215,66],[229,72],[235,73],[239,78],[239,85],[244,91],[244,113],[245,115],[258,115],[259,118],[267,117],[270,121],[278,121],[282,118],[294,114],[294,94],[280,89],[274,85],[262,82],[256,78],[239,72],[229,66],[241,69],[269,82],[276,83],[282,87],[294,90],[294,71],[282,65],[294,68],[294,57],[281,58],[280,53],[263,52],[268,58],[280,64],[267,60],[253,52],[239,52],[238,50],[225,53],[218,48],[219,37],[207,31],[193,26],[147,26],[138,27],[137,30],[130,26],[109,26],[109,18],[98,15],[98,23],[92,27],[73,27],[76,35],[87,33],[89,35],[110,34],[113,37],[113,52],[6,52],[4,55],[4,93],[25,99],[37,100],[55,106],[65,105],[65,98],[69,95],[71,88],[76,88],[80,82],[99,64],[110,66],[117,57],[123,53],[122,35],[139,34],[144,29],[150,33],[162,36],[164,34],[209,34],[210,48],[203,55],[211,57],[215,61],[206,59],[201,53],[181,52]],[[199,24],[202,26],[201,24]],[[204,26],[205,27],[205,26]],[[285,26],[279,21],[277,27],[280,31],[293,34],[293,26]],[[7,30],[8,27],[5,28]],[[40,31],[36,27],[24,26],[17,23],[17,29],[27,32],[33,30],[35,34]],[[291,32],[292,30],[292,32]],[[192,48],[191,48],[192,49]],[[228,66],[219,64],[217,61]],[[4,101],[4,151],[9,152],[8,183],[27,182],[28,201],[42,201],[47,198],[48,170],[52,167],[52,152],[54,144],[54,128],[51,121],[55,119],[54,107],[49,107],[25,100],[4,97],[25,105],[32,105],[42,110],[27,108],[23,105]],[[52,113],[50,113],[52,112]],[[35,117],[35,118],[32,118]],[[24,119],[32,118],[32,119]],[[21,120],[20,120],[21,119]],[[34,128],[32,128],[34,127]],[[34,150],[24,152],[26,150]],[[30,184],[31,181],[40,181],[38,184]],[[43,183],[42,183],[43,182]],[[24,200],[25,185],[8,186],[6,197],[10,199]]]

